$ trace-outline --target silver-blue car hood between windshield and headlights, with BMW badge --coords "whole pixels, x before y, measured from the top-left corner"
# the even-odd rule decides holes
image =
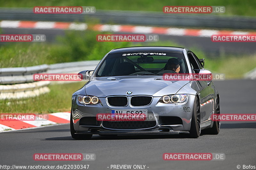
[[[85,85],[85,93],[97,97],[111,95],[152,95],[161,97],[175,94],[188,82],[166,81],[162,79],[162,76],[96,77]],[[132,91],[132,94],[126,94],[127,91]]]

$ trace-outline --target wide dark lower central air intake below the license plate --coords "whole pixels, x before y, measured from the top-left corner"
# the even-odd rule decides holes
[[[108,129],[147,129],[156,126],[156,121],[103,121]]]

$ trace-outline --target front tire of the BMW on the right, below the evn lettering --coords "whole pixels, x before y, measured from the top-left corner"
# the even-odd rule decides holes
[[[191,127],[189,130],[189,137],[197,138],[201,133],[201,114],[200,114],[200,102],[196,97],[194,104],[194,113],[192,115]]]

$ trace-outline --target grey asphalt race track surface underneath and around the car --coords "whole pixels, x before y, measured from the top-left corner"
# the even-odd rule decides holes
[[[255,81],[215,81],[221,113],[255,113]],[[222,122],[219,135],[197,139],[179,135],[138,135],[73,140],[69,125],[0,133],[1,165],[84,165],[110,169],[110,165],[146,165],[145,169],[237,169],[256,165],[256,122]],[[164,161],[163,153],[225,153],[225,160]],[[95,161],[34,161],[34,153],[95,153]],[[109,167],[109,168],[108,168]],[[113,169],[113,168],[112,168]]]

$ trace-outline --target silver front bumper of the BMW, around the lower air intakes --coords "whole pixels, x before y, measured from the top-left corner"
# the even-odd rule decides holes
[[[80,104],[76,96],[72,96],[72,118],[74,129],[77,134],[169,134],[169,133],[189,133],[191,118],[194,110],[195,95],[188,95],[183,103],[158,103],[161,97],[154,97],[151,104],[145,107],[111,107],[107,104],[106,98],[99,98],[101,103],[95,105]],[[102,121],[98,121],[96,126],[80,125],[80,119],[87,116],[97,116],[97,114],[111,113],[111,110],[133,110],[147,109],[148,115],[153,115],[156,125],[145,129],[115,129],[106,128]],[[166,124],[162,118],[166,116],[178,117],[177,123]]]

